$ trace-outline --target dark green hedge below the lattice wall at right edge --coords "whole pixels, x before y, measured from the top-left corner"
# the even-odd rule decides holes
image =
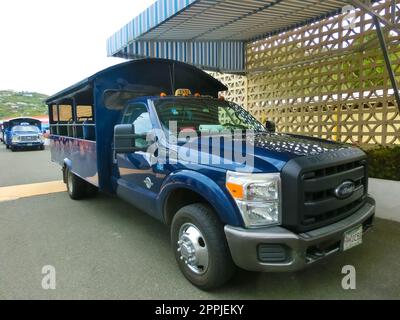
[[[400,146],[364,150],[371,178],[400,181]]]

